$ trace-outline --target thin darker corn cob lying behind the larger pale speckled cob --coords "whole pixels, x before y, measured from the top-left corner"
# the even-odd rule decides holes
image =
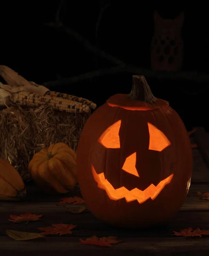
[[[70,100],[73,100],[73,101],[76,101],[76,102],[80,102],[84,105],[87,105],[92,109],[96,108],[96,104],[91,102],[90,100],[80,98],[80,97],[77,97],[77,96],[73,96],[73,95],[70,95],[70,94],[47,91],[44,95],[54,96],[54,97],[58,97],[58,98],[62,98],[62,99],[70,99]]]

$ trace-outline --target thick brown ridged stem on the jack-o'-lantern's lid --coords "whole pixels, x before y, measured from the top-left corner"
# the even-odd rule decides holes
[[[144,76],[133,76],[133,85],[131,93],[128,96],[130,99],[136,99],[150,104],[157,101]]]

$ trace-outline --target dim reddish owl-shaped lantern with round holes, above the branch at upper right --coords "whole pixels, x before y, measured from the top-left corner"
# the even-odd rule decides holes
[[[183,61],[183,18],[183,12],[174,20],[163,19],[157,11],[154,12],[154,36],[151,42],[153,70],[180,70]]]

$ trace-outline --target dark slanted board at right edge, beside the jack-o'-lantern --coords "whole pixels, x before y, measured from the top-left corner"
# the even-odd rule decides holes
[[[203,157],[209,166],[209,137],[203,127],[197,127],[197,130],[193,134],[194,141],[200,149]]]

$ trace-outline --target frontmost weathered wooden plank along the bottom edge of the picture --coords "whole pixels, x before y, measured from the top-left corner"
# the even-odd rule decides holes
[[[209,238],[123,238],[122,243],[112,247],[99,247],[80,244],[73,237],[50,237],[42,241],[12,241],[9,237],[0,237],[1,254],[21,256],[54,255],[120,255],[120,256],[164,256],[164,255],[207,255]]]

